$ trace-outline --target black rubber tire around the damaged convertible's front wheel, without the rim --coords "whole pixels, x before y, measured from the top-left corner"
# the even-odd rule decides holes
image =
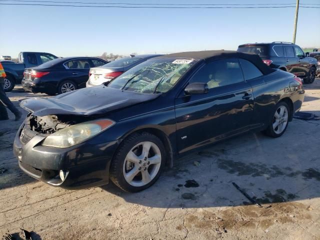
[[[160,150],[161,153],[161,163],[158,169],[158,172],[153,177],[153,179],[142,186],[133,186],[129,184],[126,179],[124,178],[123,173],[123,164],[125,164],[125,157],[128,152],[140,142],[150,141],[154,143]],[[164,165],[165,165],[166,154],[164,150],[164,145],[162,141],[155,135],[148,133],[148,132],[141,132],[141,133],[133,133],[132,135],[128,136],[123,140],[119,148],[117,149],[116,153],[113,156],[110,165],[109,177],[112,182],[120,187],[124,191],[128,192],[138,192],[141,191],[149,186],[151,186],[159,177]],[[151,165],[150,165],[151,166]],[[149,167],[150,167],[149,166]],[[139,174],[139,173],[138,173]],[[138,175],[137,175],[138,176]]]

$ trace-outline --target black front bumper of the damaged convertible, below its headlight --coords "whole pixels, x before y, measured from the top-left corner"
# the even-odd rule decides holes
[[[28,175],[53,186],[79,189],[108,183],[109,166],[118,141],[57,148],[41,145],[44,134],[20,126],[13,144],[19,167]],[[60,171],[64,174],[60,175]]]

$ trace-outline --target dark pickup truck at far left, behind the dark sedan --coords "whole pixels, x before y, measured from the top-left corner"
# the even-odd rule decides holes
[[[40,65],[57,56],[47,52],[22,51],[18,56],[18,63],[1,63],[5,71],[4,91],[11,91],[15,84],[21,83],[24,68]]]

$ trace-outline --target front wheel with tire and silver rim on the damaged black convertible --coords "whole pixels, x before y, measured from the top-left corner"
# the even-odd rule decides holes
[[[145,151],[149,145],[149,150]],[[157,180],[165,159],[164,146],[158,137],[148,132],[133,133],[114,154],[109,176],[124,191],[141,191]]]

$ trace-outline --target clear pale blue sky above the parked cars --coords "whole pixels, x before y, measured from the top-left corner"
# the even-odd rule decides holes
[[[295,3],[295,0],[119,2],[231,4]],[[300,3],[320,2],[300,0]],[[0,5],[0,55],[16,57],[20,51],[79,56],[101,55],[102,52],[128,54],[232,50],[246,42],[292,41],[294,12],[295,8],[149,9]],[[319,15],[320,8],[299,9],[297,44],[302,47],[320,47]]]

